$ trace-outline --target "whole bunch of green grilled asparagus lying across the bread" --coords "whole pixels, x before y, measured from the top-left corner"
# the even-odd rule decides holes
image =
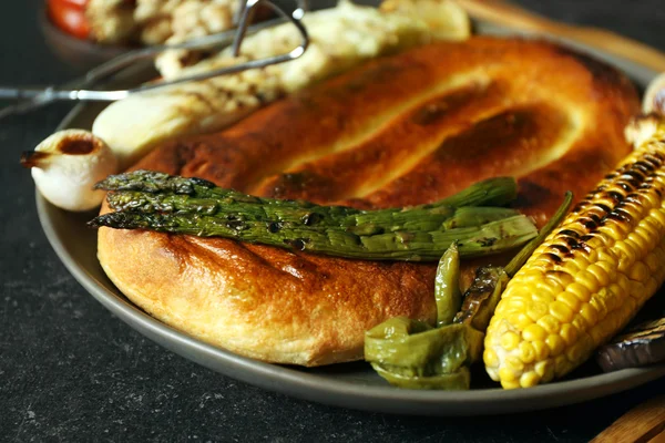
[[[438,260],[452,241],[461,255],[479,256],[536,235],[512,209],[463,207],[507,203],[515,195],[512,178],[481,182],[430,205],[381,210],[259,198],[150,172],[112,176],[98,188],[115,190],[108,199],[119,210],[96,217],[93,227],[219,236],[348,258]]]

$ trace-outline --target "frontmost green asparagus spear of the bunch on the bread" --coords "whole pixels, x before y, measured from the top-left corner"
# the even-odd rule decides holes
[[[462,257],[474,257],[512,249],[536,234],[533,223],[523,215],[475,227],[432,231],[389,231],[389,227],[380,225],[355,228],[294,226],[270,220],[243,222],[206,215],[139,212],[104,214],[90,222],[89,226],[226,237],[338,257],[412,261],[438,260],[454,240],[459,241]]]

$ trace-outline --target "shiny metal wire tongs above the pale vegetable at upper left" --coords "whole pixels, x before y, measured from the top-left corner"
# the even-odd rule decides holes
[[[309,37],[307,29],[301,23],[301,19],[307,11],[307,0],[296,0],[296,9],[288,13],[283,7],[274,3],[272,0],[241,0],[243,7],[238,9],[234,17],[236,28],[234,30],[221,32],[213,35],[207,35],[201,39],[188,40],[180,44],[162,44],[149,48],[139,49],[127,52],[120,56],[110,60],[102,65],[89,71],[83,78],[68,83],[63,87],[42,86],[42,87],[2,87],[0,86],[0,100],[14,100],[19,103],[3,107],[0,110],[0,119],[13,114],[22,114],[55,101],[99,101],[113,102],[122,100],[131,94],[155,91],[162,87],[168,87],[174,84],[194,82],[211,79],[219,75],[234,74],[237,72],[264,68],[270,64],[284,63],[301,56],[309,45]],[[265,3],[275,11],[279,18],[258,24],[249,25],[256,8]],[[301,41],[300,44],[288,53],[273,55],[259,60],[249,60],[244,63],[238,63],[232,66],[225,66],[218,70],[187,75],[171,81],[160,81],[144,84],[142,86],[129,90],[95,90],[93,89],[102,80],[110,78],[112,74],[146,59],[154,59],[157,54],[168,50],[196,50],[211,49],[216,47],[232,45],[233,55],[238,56],[241,45],[247,34],[254,34],[263,29],[274,27],[284,22],[293,23],[299,31]]]

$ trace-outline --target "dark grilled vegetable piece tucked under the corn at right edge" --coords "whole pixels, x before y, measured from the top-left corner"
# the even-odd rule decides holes
[[[605,372],[665,361],[665,318],[645,321],[615,337],[596,351]]]

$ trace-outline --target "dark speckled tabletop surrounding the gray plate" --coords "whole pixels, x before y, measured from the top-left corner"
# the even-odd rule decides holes
[[[521,0],[665,51],[662,0]],[[44,42],[38,0],[4,1],[0,84],[61,83],[73,68]],[[42,233],[21,151],[68,105],[0,122],[0,441],[585,442],[665,380],[573,406],[475,419],[336,409],[264,391],[144,339],[70,276]]]

